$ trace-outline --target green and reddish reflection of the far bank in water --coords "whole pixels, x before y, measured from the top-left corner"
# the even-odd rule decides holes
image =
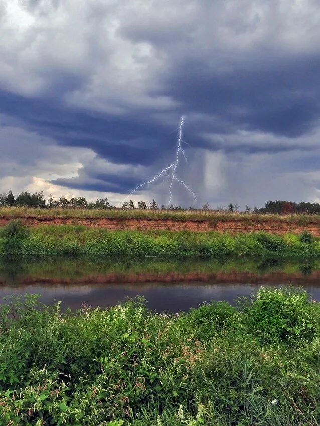
[[[44,257],[0,261],[0,284],[33,283],[149,283],[204,282],[251,284],[320,283],[320,261],[316,259],[226,259]]]

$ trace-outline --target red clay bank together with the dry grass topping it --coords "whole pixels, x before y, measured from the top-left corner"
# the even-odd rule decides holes
[[[320,236],[319,215],[275,215],[229,213],[203,210],[86,210],[32,209],[25,207],[0,208],[0,226],[12,219],[24,225],[84,225],[108,230],[167,230],[194,232],[258,232],[273,234],[306,230]]]

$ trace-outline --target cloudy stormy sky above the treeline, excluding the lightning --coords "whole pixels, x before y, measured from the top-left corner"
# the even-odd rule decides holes
[[[320,201],[318,0],[2,0],[0,192]],[[130,198],[169,201],[170,177]]]

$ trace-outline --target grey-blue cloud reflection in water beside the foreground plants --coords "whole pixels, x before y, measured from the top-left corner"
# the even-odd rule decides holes
[[[273,285],[278,287],[281,284]],[[52,304],[62,301],[62,309],[70,307],[72,310],[87,306],[113,306],[126,297],[144,296],[147,306],[156,311],[168,310],[178,312],[187,311],[191,307],[198,307],[204,302],[225,300],[235,304],[239,296],[248,296],[256,293],[261,285],[252,284],[90,284],[90,285],[46,285],[0,288],[0,296],[41,294],[40,301]],[[320,286],[305,287],[313,298],[320,299]],[[3,303],[3,300],[0,300]]]

